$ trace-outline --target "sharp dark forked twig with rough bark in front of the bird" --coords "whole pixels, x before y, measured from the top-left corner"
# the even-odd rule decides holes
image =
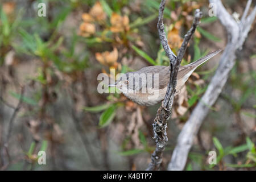
[[[177,84],[177,72],[179,70],[180,62],[185,54],[185,51],[188,46],[188,42],[191,39],[193,33],[196,30],[196,26],[199,24],[201,19],[200,10],[196,10],[195,19],[193,20],[192,28],[187,32],[184,37],[183,43],[179,49],[178,56],[176,57],[171,51],[171,48],[168,46],[168,40],[164,33],[164,24],[163,24],[163,11],[164,11],[165,1],[162,0],[159,7],[159,17],[158,17],[158,32],[159,38],[163,45],[164,51],[170,60],[170,81],[168,82],[166,96],[162,102],[162,105],[159,107],[156,118],[153,123],[154,129],[154,139],[156,142],[156,148],[153,154],[151,155],[151,163],[149,164],[147,170],[158,170],[160,164],[162,163],[162,155],[166,143],[168,141],[166,128],[167,121],[171,115],[172,103],[174,101],[174,93]]]

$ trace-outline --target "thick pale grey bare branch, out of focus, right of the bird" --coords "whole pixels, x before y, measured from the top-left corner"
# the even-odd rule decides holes
[[[187,162],[188,152],[192,147],[193,138],[200,129],[203,120],[209,113],[209,108],[216,102],[221,90],[228,80],[229,72],[233,68],[236,59],[236,51],[239,50],[247,37],[251,23],[255,18],[256,6],[253,12],[244,20],[245,23],[238,24],[226,11],[220,0],[210,0],[217,6],[217,16],[228,32],[228,44],[221,55],[220,64],[213,76],[207,91],[192,111],[191,116],[185,123],[179,137],[177,145],[172,153],[172,159],[168,165],[168,170],[183,170]],[[248,5],[248,3],[247,3]]]

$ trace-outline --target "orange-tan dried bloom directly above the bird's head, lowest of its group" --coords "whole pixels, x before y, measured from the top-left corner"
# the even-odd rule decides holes
[[[105,51],[105,52],[96,52],[95,53],[97,61],[99,61],[103,65],[107,65],[112,67],[118,59],[118,51],[117,48],[114,47],[112,52]]]

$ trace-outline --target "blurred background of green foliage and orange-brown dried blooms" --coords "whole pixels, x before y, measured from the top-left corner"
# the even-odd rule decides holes
[[[44,6],[46,5],[46,16]],[[246,1],[222,1],[241,18]],[[160,1],[16,0],[0,2],[0,169],[144,170],[159,105],[100,94],[97,76],[168,65],[156,29]],[[182,61],[224,49],[227,36],[208,1],[167,1],[164,24],[177,53],[195,9],[203,11]],[[252,7],[255,6],[253,1]],[[201,126],[185,170],[255,170],[255,20],[224,90]],[[221,54],[196,69],[175,98],[161,169],[207,89]],[[217,152],[209,165],[208,152]],[[46,151],[46,165],[38,152]]]

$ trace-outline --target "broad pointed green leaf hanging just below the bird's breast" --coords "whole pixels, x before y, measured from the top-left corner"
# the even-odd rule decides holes
[[[110,106],[104,113],[101,114],[99,126],[106,127],[108,126],[115,117],[115,110],[117,109],[116,105]]]

